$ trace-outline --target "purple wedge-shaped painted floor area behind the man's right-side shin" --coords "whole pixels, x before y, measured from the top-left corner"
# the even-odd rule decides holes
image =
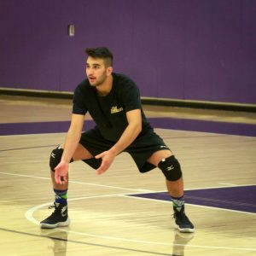
[[[130,195],[160,201],[171,201],[167,192]],[[256,213],[256,185],[185,191],[189,204]]]

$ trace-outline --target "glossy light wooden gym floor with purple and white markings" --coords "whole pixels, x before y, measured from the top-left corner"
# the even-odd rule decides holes
[[[144,106],[183,168],[195,234],[180,234],[163,175],[140,174],[128,154],[102,176],[71,164],[72,222],[40,230],[71,101],[0,96],[0,108],[1,255],[256,255],[256,113]]]

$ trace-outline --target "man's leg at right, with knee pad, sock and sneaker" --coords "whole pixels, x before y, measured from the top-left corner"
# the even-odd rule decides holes
[[[172,197],[175,223],[181,232],[194,232],[194,225],[184,212],[183,177],[180,165],[170,150],[160,150],[148,162],[158,166],[166,176],[166,187]]]

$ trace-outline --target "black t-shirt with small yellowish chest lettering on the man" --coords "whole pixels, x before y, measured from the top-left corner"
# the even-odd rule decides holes
[[[73,113],[84,115],[88,111],[96,122],[96,129],[109,141],[119,140],[128,125],[126,112],[133,109],[142,110],[143,131],[140,137],[152,127],[143,113],[137,84],[122,74],[113,73],[113,86],[107,96],[97,96],[96,88],[88,79],[84,79],[73,94]]]

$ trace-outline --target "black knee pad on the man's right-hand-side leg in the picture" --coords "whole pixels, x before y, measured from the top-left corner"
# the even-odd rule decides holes
[[[174,155],[171,155],[166,159],[161,160],[158,164],[158,167],[164,173],[166,179],[169,181],[176,181],[183,176],[180,164]]]

